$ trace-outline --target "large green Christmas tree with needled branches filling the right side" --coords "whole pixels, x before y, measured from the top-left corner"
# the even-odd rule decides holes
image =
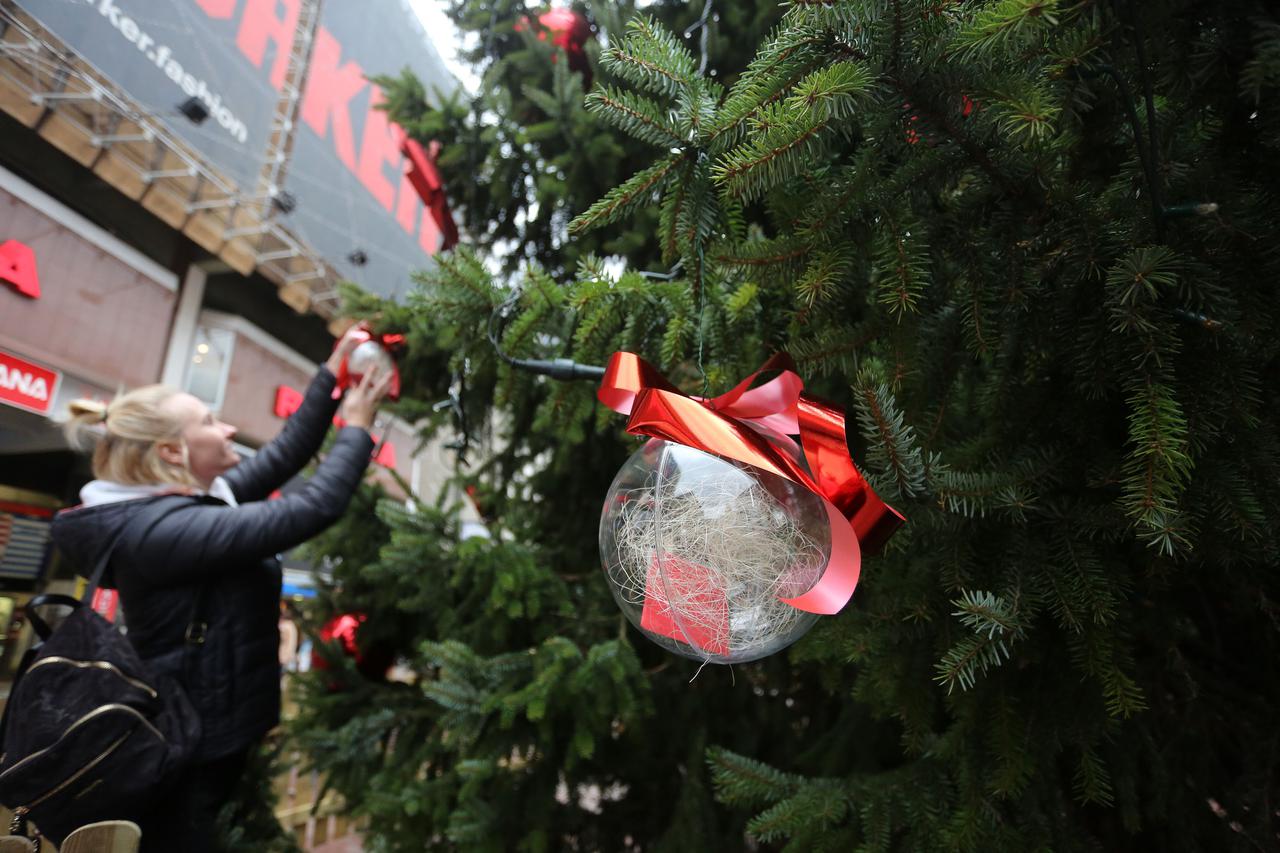
[[[794,0],[750,42],[763,6],[625,12],[585,97],[502,3],[454,6],[476,104],[387,81],[476,158],[472,247],[351,306],[421,401],[453,382],[492,537],[370,494],[319,548],[420,676],[310,685],[375,849],[1272,847],[1275,10]],[[908,524],[787,652],[699,671],[618,616],[635,439],[507,361],[617,350],[699,394],[785,350],[850,411]]]

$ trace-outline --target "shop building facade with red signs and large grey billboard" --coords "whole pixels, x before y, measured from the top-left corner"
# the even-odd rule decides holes
[[[366,74],[412,64],[439,88],[452,78],[398,0],[374,3],[380,22],[329,5],[0,3],[0,693],[29,643],[22,606],[77,587],[49,543],[52,514],[91,478],[60,430],[68,402],[164,382],[236,424],[252,453],[346,328],[335,283],[396,297],[449,242],[440,200],[410,179],[434,164],[376,110]],[[175,22],[224,44],[195,50]],[[156,65],[161,40],[173,44]],[[361,58],[371,44],[387,68]],[[232,126],[238,147],[219,137]],[[412,426],[389,416],[374,432],[375,476],[393,494],[406,497],[398,482],[439,489],[439,448],[415,453]],[[307,567],[293,567],[305,590]]]

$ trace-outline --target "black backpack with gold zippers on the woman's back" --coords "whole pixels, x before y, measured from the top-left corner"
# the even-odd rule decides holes
[[[114,548],[99,561],[91,601]],[[204,639],[197,596],[188,652]],[[38,610],[72,612],[55,629]],[[101,820],[137,817],[189,761],[200,717],[182,688],[157,678],[128,639],[92,607],[69,596],[37,596],[27,616],[42,640],[18,669],[0,720],[0,803],[10,833],[33,820],[55,844]]]

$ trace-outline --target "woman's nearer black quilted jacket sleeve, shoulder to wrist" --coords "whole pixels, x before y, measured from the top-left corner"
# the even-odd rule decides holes
[[[337,521],[360,485],[374,441],[346,426],[306,485],[275,501],[230,507],[220,501],[157,507],[125,535],[122,557],[156,585],[198,581],[214,571],[256,566]]]

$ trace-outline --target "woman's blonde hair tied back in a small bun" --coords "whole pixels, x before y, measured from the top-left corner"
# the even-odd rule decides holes
[[[160,443],[182,437],[182,420],[164,406],[178,393],[169,386],[143,386],[110,405],[74,400],[64,426],[67,439],[72,447],[93,451],[93,476],[100,480],[198,487],[187,470],[186,442],[182,442],[183,465],[160,459]]]

